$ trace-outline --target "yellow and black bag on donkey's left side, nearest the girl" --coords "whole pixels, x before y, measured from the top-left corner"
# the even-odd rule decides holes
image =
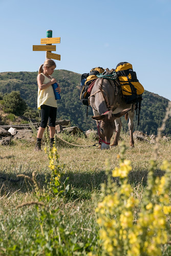
[[[97,74],[103,73],[103,68],[93,68],[89,73],[84,73],[81,75],[81,84],[80,84],[80,101],[84,105],[89,105],[89,96],[88,88],[93,81],[97,79]]]

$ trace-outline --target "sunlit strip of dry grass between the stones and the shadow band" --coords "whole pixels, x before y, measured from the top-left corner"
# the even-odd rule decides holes
[[[154,144],[148,142],[135,141],[135,147],[129,146],[129,135],[121,133],[121,139],[117,147],[110,150],[99,150],[97,147],[58,147],[58,154],[61,163],[66,164],[66,172],[72,174],[95,174],[96,172],[104,172],[105,159],[110,159],[111,168],[118,166],[117,155],[120,152],[120,143],[124,141],[126,150],[126,159],[132,162],[133,172],[147,172],[149,160],[154,159]],[[84,138],[77,139],[76,142],[82,145],[93,144],[94,141]],[[159,146],[158,164],[160,165],[164,159],[171,161],[171,143],[162,141]],[[24,141],[16,142],[15,145],[1,146],[1,173],[9,173],[12,171],[17,174],[29,173],[36,170],[39,174],[48,172],[48,158],[44,151],[35,152],[34,145],[24,143]],[[140,177],[141,178],[141,177]],[[138,178],[138,181],[140,179]]]

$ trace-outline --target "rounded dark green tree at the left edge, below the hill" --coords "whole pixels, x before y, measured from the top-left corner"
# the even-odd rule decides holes
[[[27,109],[27,104],[24,99],[20,97],[19,91],[12,91],[5,94],[3,97],[3,110],[6,113],[12,113],[16,116],[23,115]]]

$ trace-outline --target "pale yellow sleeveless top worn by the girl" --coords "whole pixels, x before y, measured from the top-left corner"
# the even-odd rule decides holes
[[[52,77],[48,78],[44,73],[41,73],[41,75],[45,77],[44,84],[47,84],[52,79]],[[55,99],[52,86],[49,86],[44,90],[40,90],[38,87],[37,109],[40,110],[40,106],[43,104],[57,108],[57,100]]]

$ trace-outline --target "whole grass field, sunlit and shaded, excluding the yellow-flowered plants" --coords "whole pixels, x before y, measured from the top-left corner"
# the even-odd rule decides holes
[[[65,139],[80,145],[91,145],[95,141],[83,136],[68,136]],[[131,160],[129,175],[135,197],[141,200],[145,191],[149,160],[154,158],[154,144],[135,141],[129,146],[129,135],[121,133],[119,145],[110,150],[97,147],[71,147],[58,144],[60,164],[65,164],[64,176],[69,177],[70,190],[64,197],[46,197],[51,171],[49,159],[44,151],[35,152],[34,145],[27,141],[16,141],[10,146],[0,146],[0,255],[88,255],[90,252],[101,255],[98,238],[95,207],[100,195],[100,184],[107,180],[105,161],[109,159],[113,170],[119,165],[117,158],[121,142],[126,145],[125,158]],[[163,160],[171,162],[171,143],[161,140],[158,166]],[[40,184],[39,195],[45,207],[31,202],[37,201],[35,186],[27,178],[19,182],[16,176],[24,174]],[[156,174],[163,175],[158,167]],[[39,200],[40,201],[40,200]],[[28,205],[17,207],[23,203]],[[48,208],[50,211],[41,210]],[[47,214],[49,212],[49,214]],[[42,239],[44,237],[44,239]],[[163,255],[170,255],[169,245],[163,247]],[[90,254],[93,255],[93,254]],[[106,254],[108,255],[108,254]]]

